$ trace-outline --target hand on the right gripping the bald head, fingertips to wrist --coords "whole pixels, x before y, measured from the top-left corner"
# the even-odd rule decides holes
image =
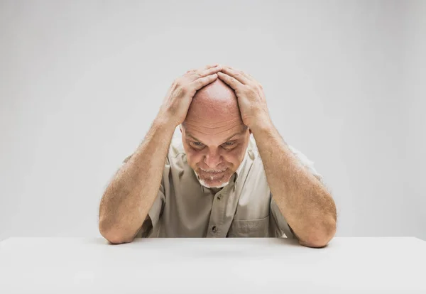
[[[241,119],[246,126],[253,130],[260,124],[271,124],[265,94],[259,82],[246,72],[226,65],[222,65],[222,70],[217,74],[220,80],[234,89]]]

